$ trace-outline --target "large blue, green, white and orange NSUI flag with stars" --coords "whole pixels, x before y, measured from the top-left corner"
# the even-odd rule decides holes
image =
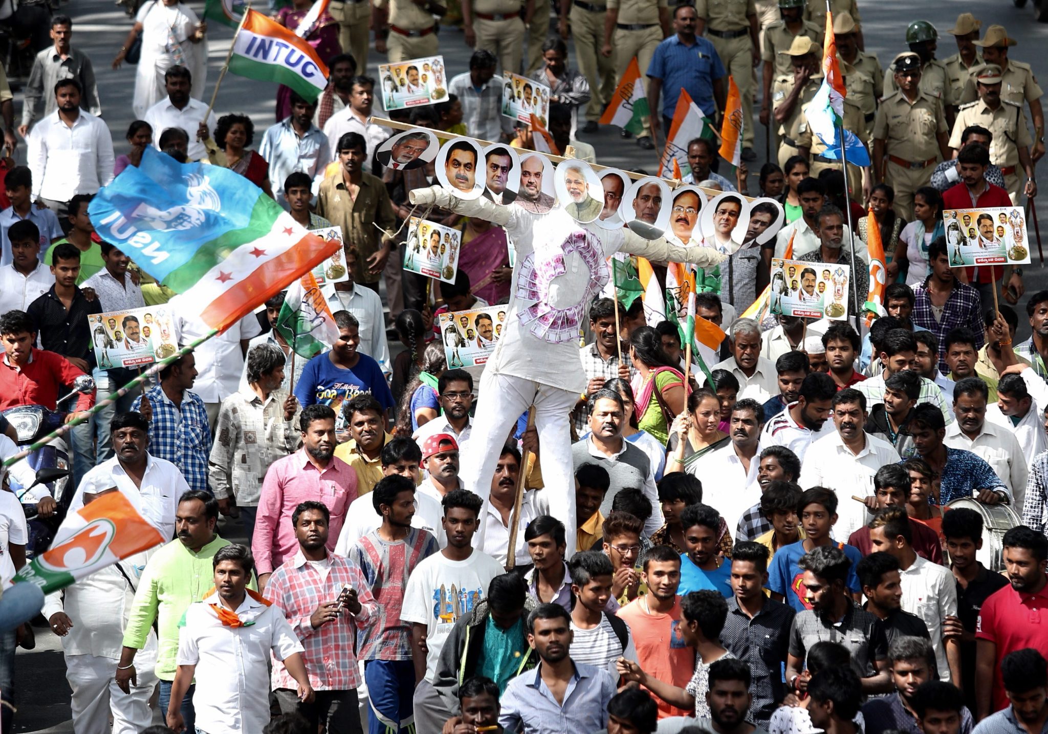
[[[147,147],[88,208],[99,236],[224,330],[342,243],[306,231],[243,176]]]

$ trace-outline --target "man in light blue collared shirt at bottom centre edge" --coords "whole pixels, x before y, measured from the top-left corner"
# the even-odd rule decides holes
[[[528,614],[527,641],[539,655],[534,670],[509,682],[502,694],[499,724],[521,732],[596,732],[608,724],[615,681],[607,670],[570,657],[571,617],[559,604],[542,604]],[[564,706],[549,691],[563,692]],[[554,724],[555,722],[555,724]]]

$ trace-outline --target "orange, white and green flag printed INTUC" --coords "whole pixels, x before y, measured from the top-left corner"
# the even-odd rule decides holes
[[[309,102],[324,91],[328,75],[327,65],[308,42],[258,10],[247,10],[234,38],[230,71],[260,82],[279,82]]]

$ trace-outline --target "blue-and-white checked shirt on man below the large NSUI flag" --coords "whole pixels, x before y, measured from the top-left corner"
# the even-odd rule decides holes
[[[211,426],[203,401],[194,392],[182,393],[181,408],[163,394],[157,385],[146,392],[153,408],[149,423],[149,453],[171,461],[185,477],[191,490],[211,493],[208,487],[208,454],[211,452]],[[141,409],[141,395],[131,410]]]

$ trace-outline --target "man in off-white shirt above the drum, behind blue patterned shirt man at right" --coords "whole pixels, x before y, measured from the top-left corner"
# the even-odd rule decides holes
[[[952,449],[964,449],[981,457],[1008,488],[1016,508],[1026,498],[1028,467],[1023,447],[1013,429],[1003,428],[986,419],[989,390],[982,377],[965,377],[954,391],[955,423],[946,426],[942,439]],[[1042,431],[1044,428],[1042,427]]]

